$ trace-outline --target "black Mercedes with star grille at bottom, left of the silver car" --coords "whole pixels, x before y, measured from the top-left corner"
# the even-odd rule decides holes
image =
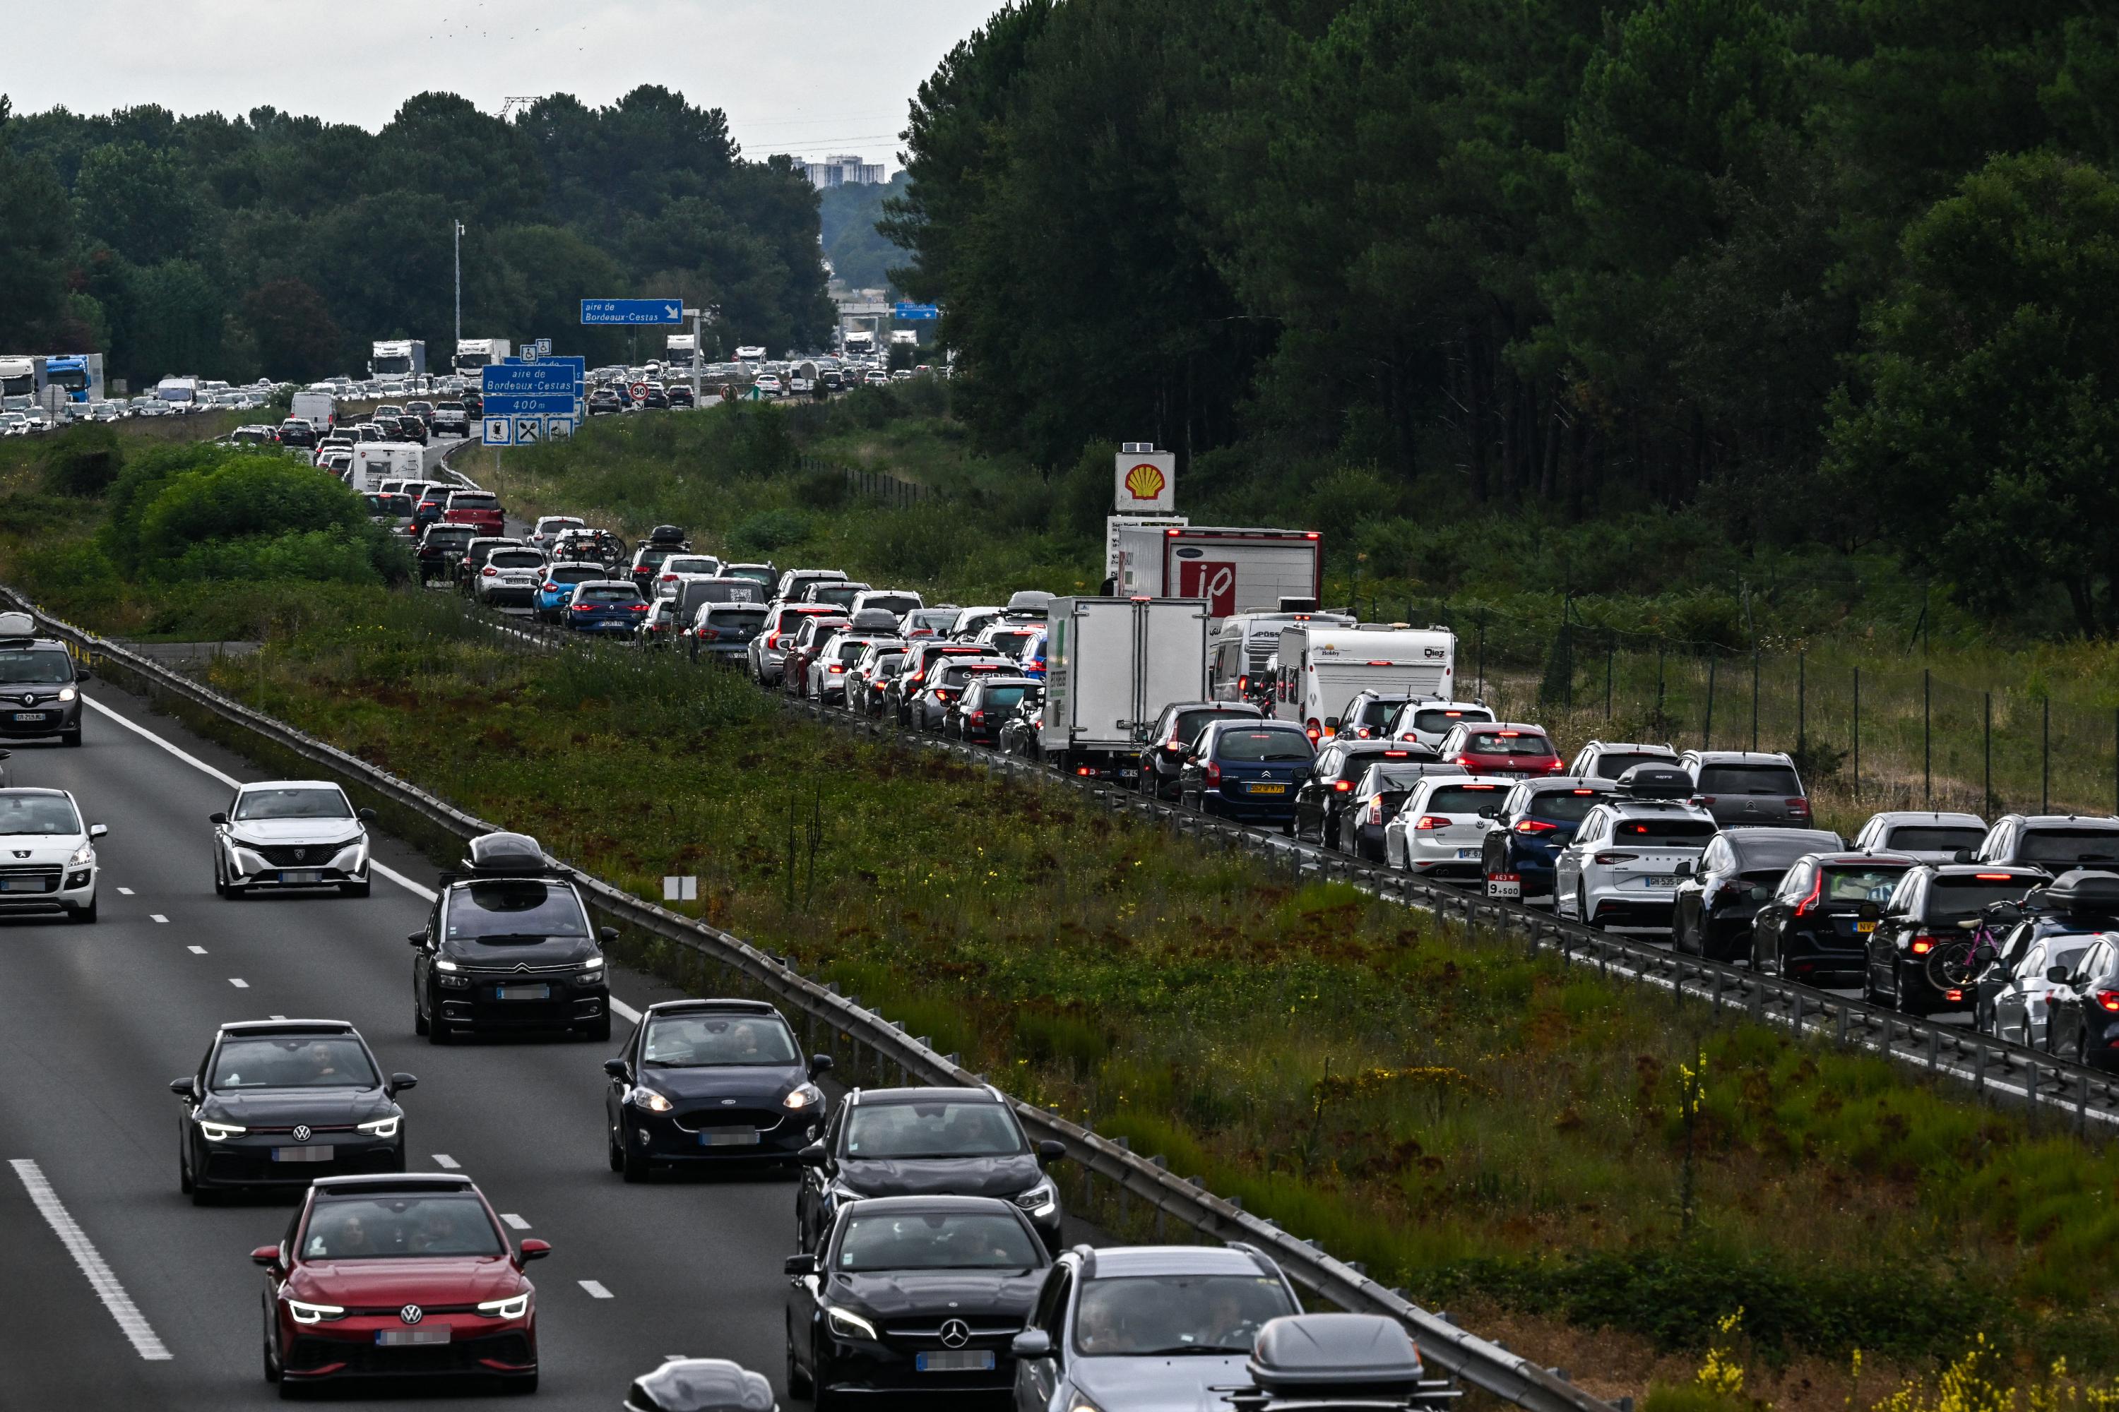
[[[788,1393],[818,1412],[873,1393],[958,1399],[1015,1387],[1011,1344],[1051,1257],[1023,1213],[990,1196],[841,1207],[814,1251],[788,1255]]]

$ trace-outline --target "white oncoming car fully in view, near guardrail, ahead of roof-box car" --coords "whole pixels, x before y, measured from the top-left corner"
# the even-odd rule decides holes
[[[244,898],[280,887],[337,887],[369,895],[373,809],[354,809],[328,779],[242,785],[214,823],[214,891]]]

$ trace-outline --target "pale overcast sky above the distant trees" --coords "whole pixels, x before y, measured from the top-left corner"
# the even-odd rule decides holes
[[[487,112],[659,83],[729,114],[746,157],[896,169],[905,104],[1000,0],[100,0],[8,4],[17,112],[259,106],[377,129],[426,89]]]

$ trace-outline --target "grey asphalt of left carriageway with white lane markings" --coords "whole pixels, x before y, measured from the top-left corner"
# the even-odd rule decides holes
[[[405,881],[377,872],[371,898],[214,898],[206,817],[261,771],[108,684],[91,690],[81,749],[15,745],[11,760],[15,783],[72,790],[110,836],[100,923],[0,921],[0,1408],[278,1399],[250,1251],[280,1238],[292,1207],[195,1209],[178,1194],[167,1090],[216,1025],[269,1016],[358,1025],[386,1071],[420,1075],[403,1099],[409,1166],[470,1173],[519,1234],[553,1243],[530,1270],[540,1406],[608,1410],[672,1353],[733,1357],[780,1387],[793,1181],[623,1185],[602,1137],[615,1044],[413,1037],[405,934],[424,923],[430,864],[377,838],[377,862]],[[625,970],[612,993],[634,1014],[674,995]]]

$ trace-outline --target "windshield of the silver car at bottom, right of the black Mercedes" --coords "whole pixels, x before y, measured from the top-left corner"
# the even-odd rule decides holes
[[[1265,1274],[1136,1274],[1081,1287],[1074,1351],[1089,1357],[1250,1353],[1267,1319],[1301,1313]]]

